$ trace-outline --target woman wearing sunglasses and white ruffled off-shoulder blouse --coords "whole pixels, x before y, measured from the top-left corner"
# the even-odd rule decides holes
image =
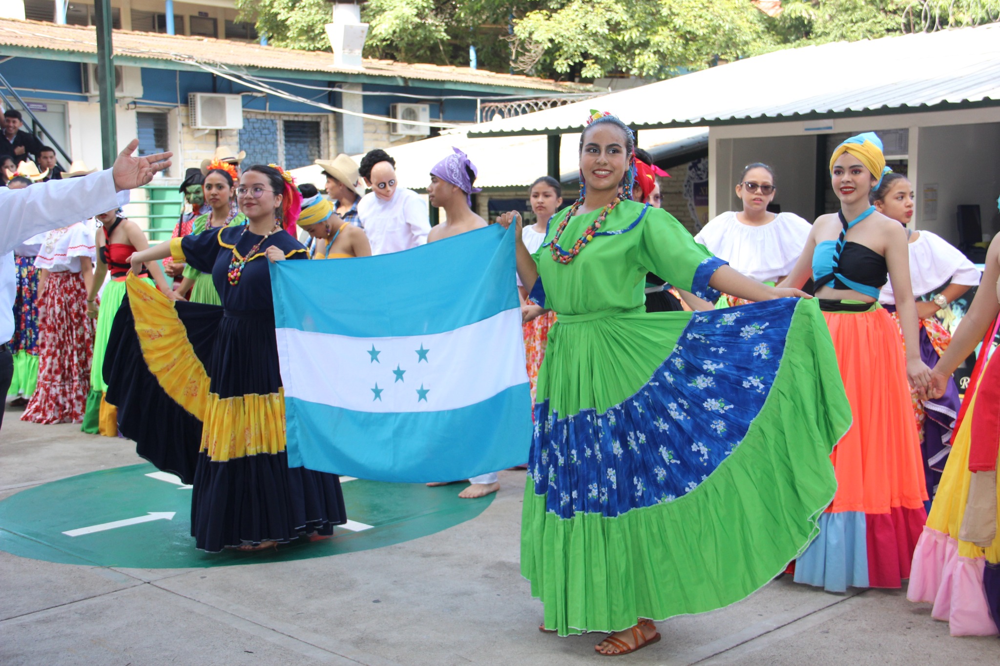
[[[736,184],[743,210],[716,217],[694,240],[748,278],[769,285],[780,282],[802,254],[812,226],[794,213],[768,212],[775,192],[770,167],[760,162],[747,165]],[[717,307],[746,303],[723,294]]]

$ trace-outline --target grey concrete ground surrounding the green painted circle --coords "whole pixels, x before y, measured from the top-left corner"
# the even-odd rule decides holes
[[[19,415],[8,407],[0,430],[0,500],[141,461],[127,440]],[[523,483],[523,472],[503,472],[478,517],[333,557],[123,569],[0,552],[0,663],[597,663],[599,636],[537,629],[541,605],[518,567]],[[952,638],[904,592],[828,594],[787,577],[728,608],[658,627],[663,639],[623,663],[1000,664],[1000,640]]]

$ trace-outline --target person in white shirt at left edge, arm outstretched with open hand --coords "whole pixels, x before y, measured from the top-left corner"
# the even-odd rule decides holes
[[[132,157],[138,147],[139,141],[133,140],[111,169],[97,174],[37,183],[24,190],[0,188],[0,396],[6,397],[14,369],[7,346],[14,335],[17,295],[14,248],[35,234],[118,208],[119,192],[148,184],[153,174],[170,166],[172,153]]]

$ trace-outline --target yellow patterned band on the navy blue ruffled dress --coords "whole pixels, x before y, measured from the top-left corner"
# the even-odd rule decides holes
[[[201,449],[215,461],[285,450],[285,394],[219,397],[209,390],[173,302],[131,274],[125,281],[142,355],[163,390],[204,423]]]

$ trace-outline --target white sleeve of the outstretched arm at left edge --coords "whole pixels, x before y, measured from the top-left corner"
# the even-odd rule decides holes
[[[66,227],[118,208],[111,170],[82,178],[0,188],[0,255],[50,229]]]

